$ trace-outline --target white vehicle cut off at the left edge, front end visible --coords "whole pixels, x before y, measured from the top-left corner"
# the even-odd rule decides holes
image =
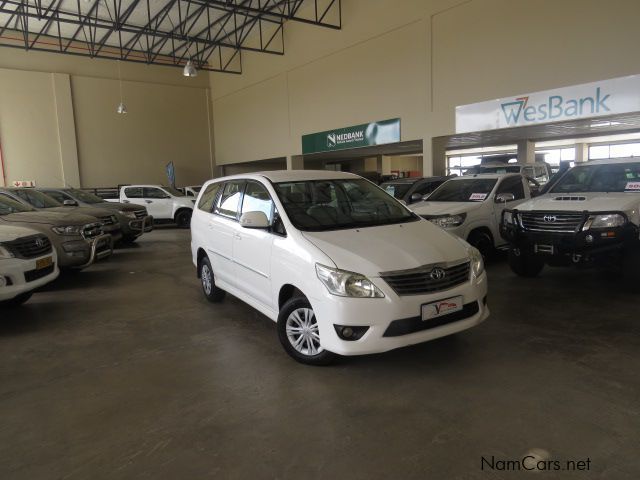
[[[56,251],[46,235],[0,226],[0,306],[17,306],[58,276]]]

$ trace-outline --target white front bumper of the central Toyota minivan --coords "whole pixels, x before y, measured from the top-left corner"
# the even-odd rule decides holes
[[[424,295],[398,296],[384,280],[371,280],[384,298],[337,297],[320,285],[320,296],[310,299],[325,349],[340,355],[386,352],[466,330],[489,316],[486,272],[448,290]],[[421,320],[422,305],[456,296],[463,298],[461,312]],[[369,328],[360,339],[348,341],[338,336],[334,325]]]

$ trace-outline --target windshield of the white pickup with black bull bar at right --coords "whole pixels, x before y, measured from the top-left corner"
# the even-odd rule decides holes
[[[640,192],[640,162],[574,167],[551,193]]]

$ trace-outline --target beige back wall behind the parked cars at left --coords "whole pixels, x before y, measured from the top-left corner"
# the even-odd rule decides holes
[[[6,183],[110,186],[211,178],[206,72],[122,63],[124,102],[118,115],[117,64],[0,49],[0,142]],[[2,179],[0,178],[0,184]]]

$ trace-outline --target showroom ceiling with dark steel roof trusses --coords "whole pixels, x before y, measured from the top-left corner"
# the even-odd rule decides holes
[[[284,24],[341,28],[341,0],[0,0],[0,46],[242,73]]]

